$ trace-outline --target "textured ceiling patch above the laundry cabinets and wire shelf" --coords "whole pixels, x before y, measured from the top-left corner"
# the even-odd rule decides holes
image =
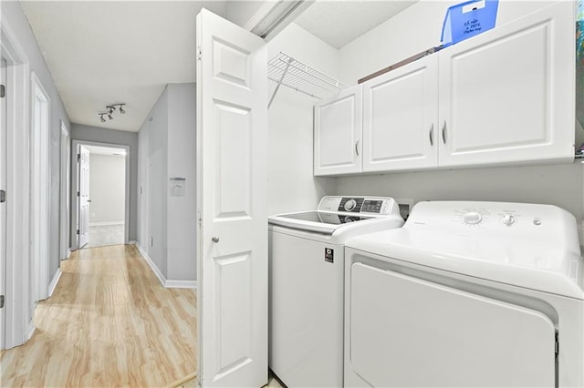
[[[417,1],[318,0],[296,23],[328,45],[341,48]]]

